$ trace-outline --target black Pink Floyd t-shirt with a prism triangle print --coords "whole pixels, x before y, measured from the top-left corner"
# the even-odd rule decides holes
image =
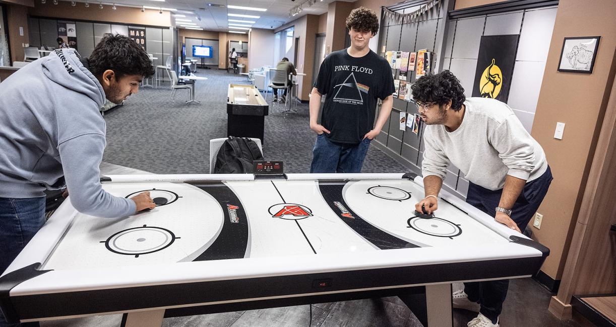
[[[377,98],[395,92],[389,63],[372,50],[360,58],[346,49],[330,53],[314,87],[326,96],[321,125],[331,132],[327,138],[338,143],[360,143],[375,124]]]

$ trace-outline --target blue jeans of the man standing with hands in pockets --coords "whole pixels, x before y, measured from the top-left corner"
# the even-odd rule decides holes
[[[310,173],[361,173],[370,141],[365,138],[359,144],[334,143],[324,134],[318,135]]]

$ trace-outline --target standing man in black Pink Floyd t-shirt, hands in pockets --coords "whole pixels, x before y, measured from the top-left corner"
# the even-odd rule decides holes
[[[354,9],[346,20],[351,47],[330,53],[310,95],[310,129],[318,134],[310,173],[359,173],[370,141],[389,119],[394,79],[387,60],[368,48],[379,30],[375,13]],[[317,124],[322,95],[321,124]],[[375,124],[377,98],[383,100]]]

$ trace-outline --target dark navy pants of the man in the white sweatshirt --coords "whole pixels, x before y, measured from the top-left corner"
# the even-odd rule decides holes
[[[548,170],[540,178],[530,181],[524,186],[511,209],[513,211],[511,219],[516,222],[520,230],[524,231],[530,219],[537,212],[541,201],[548,192],[552,179],[552,172],[548,166]],[[493,217],[496,215],[495,209],[498,207],[501,194],[503,194],[503,189],[490,191],[469,183],[466,202]],[[464,293],[468,294],[468,299],[479,303],[481,305],[479,312],[492,320],[493,323],[496,323],[503,310],[503,302],[505,302],[508,288],[509,280],[464,283]]]

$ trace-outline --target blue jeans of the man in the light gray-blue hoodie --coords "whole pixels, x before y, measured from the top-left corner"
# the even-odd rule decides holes
[[[0,197],[0,272],[45,223],[45,197],[9,199]],[[38,326],[38,323],[9,324],[0,315],[0,327]]]

